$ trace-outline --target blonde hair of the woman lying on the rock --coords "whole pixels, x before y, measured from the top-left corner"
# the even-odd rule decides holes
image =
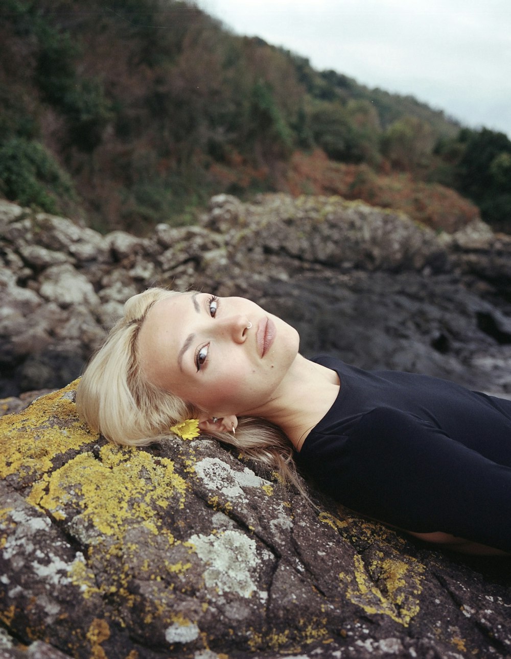
[[[111,329],[78,384],[78,415],[115,444],[142,446],[161,441],[171,426],[200,416],[195,405],[148,382],[138,364],[138,333],[148,310],[174,295],[181,293],[150,288],[131,297],[123,318]],[[293,461],[293,446],[278,426],[262,418],[241,417],[235,435],[209,435],[275,469],[284,482],[291,482],[307,496]]]

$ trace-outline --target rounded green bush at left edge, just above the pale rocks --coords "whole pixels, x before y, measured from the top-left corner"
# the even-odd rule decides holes
[[[59,210],[59,198],[74,196],[69,177],[44,146],[16,137],[0,146],[0,193],[48,213]]]

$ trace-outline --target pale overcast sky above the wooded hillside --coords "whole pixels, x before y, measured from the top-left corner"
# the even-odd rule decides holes
[[[511,138],[511,0],[197,0],[369,87],[411,94]]]

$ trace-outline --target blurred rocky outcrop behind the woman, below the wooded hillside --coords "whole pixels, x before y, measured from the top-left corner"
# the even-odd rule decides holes
[[[200,226],[102,236],[0,202],[0,396],[63,386],[149,285],[260,301],[301,349],[511,391],[511,241],[339,197],[219,195]]]

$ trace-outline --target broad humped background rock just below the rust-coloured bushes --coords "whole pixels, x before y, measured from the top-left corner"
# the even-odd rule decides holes
[[[423,270],[442,272],[447,255],[435,233],[406,215],[336,197],[272,196],[270,203],[249,205],[237,252],[283,254],[337,270]]]

